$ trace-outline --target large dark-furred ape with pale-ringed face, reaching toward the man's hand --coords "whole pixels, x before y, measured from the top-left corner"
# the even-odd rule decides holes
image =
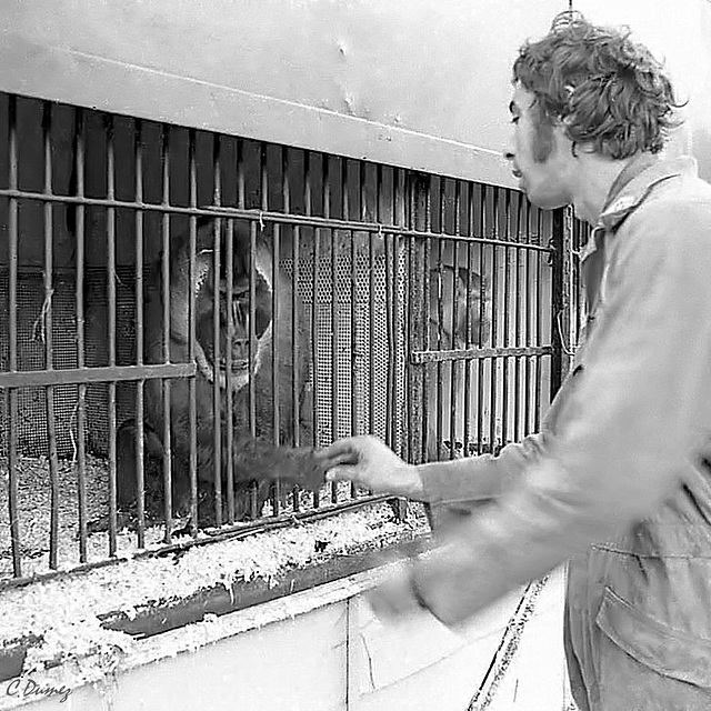
[[[269,484],[277,478],[304,488],[323,483],[323,469],[309,447],[292,448],[294,421],[292,378],[297,378],[299,402],[296,423],[301,443],[312,442],[311,410],[309,407],[309,333],[308,318],[301,302],[298,303],[298,328],[292,334],[292,282],[287,273],[273,274],[273,260],[267,244],[258,242],[254,260],[256,309],[254,332],[254,410],[256,434],[250,433],[249,420],[249,290],[250,290],[250,234],[249,228],[236,223],[233,229],[233,289],[232,303],[227,301],[224,262],[227,256],[227,229],[220,230],[222,273],[216,274],[213,249],[217,222],[199,219],[196,240],[194,280],[189,282],[189,234],[178,238],[170,254],[170,340],[172,363],[189,362],[189,294],[194,291],[197,364],[197,459],[198,480],[201,488],[214,482],[214,420],[213,392],[217,381],[220,391],[221,474],[227,481],[227,385],[232,389],[232,458],[237,515],[248,513],[249,482],[258,482],[258,505],[267,499]],[[272,321],[272,287],[278,289],[279,312]],[[163,358],[163,296],[160,260],[146,280],[144,289],[144,348],[146,363],[162,363]],[[216,362],[213,346],[214,300],[220,300],[220,343]],[[234,332],[228,333],[228,309],[232,310]],[[292,363],[292,338],[298,357]],[[279,441],[274,444],[272,344],[277,344],[279,379]],[[226,372],[226,352],[231,353],[231,379]],[[190,407],[189,380],[174,379],[170,388],[170,450],[173,481],[173,509],[179,515],[188,512],[190,502]],[[144,385],[144,452],[147,488],[160,489],[163,457],[163,393],[161,380],[148,380]],[[123,507],[136,498],[136,423],[124,422],[118,435],[118,500]],[[151,472],[152,480],[151,480]],[[156,481],[158,480],[158,481]]]

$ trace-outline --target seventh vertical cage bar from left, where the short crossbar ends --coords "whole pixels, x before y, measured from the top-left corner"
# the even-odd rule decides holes
[[[198,170],[196,164],[196,130],[188,131],[188,194],[191,208],[198,204]],[[198,243],[198,221],[190,214],[190,232],[188,237],[188,362],[196,362],[196,252]],[[188,381],[188,418],[190,428],[190,519],[192,534],[198,535],[198,395],[196,378]]]

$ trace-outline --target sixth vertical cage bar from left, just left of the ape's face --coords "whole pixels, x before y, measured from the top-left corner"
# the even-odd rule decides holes
[[[170,127],[161,126],[161,171],[162,200],[161,204],[170,204]],[[161,214],[161,274],[162,274],[162,312],[163,312],[163,363],[170,362],[170,217],[168,212]],[[164,542],[172,543],[173,529],[173,485],[172,485],[172,442],[171,442],[171,402],[170,379],[161,381],[163,405],[163,519],[166,521]]]

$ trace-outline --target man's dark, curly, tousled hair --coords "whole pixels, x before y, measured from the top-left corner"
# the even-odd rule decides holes
[[[535,97],[541,128],[562,122],[573,142],[612,159],[662,150],[680,103],[651,52],[629,28],[607,29],[579,12],[555,17],[550,32],[521,47],[513,83]]]

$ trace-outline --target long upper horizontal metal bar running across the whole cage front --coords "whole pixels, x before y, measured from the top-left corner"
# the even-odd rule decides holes
[[[554,252],[552,246],[531,244],[530,242],[515,242],[512,240],[469,237],[467,234],[447,234],[444,232],[428,232],[419,230],[408,230],[397,224],[383,224],[380,222],[358,222],[353,220],[338,220],[334,218],[319,218],[306,214],[286,214],[283,212],[271,212],[269,210],[247,210],[242,208],[206,207],[184,208],[179,206],[166,206],[151,202],[130,202],[126,200],[109,200],[103,198],[80,198],[76,196],[50,196],[39,192],[27,192],[23,190],[0,190],[0,197],[8,197],[17,200],[38,200],[40,202],[59,202],[61,204],[82,204],[90,207],[121,208],[127,210],[143,210],[147,212],[160,212],[187,216],[208,216],[216,218],[233,218],[250,220],[251,222],[290,224],[302,227],[314,227],[331,230],[346,230],[358,232],[377,232],[379,234],[398,234],[402,237],[414,237],[424,239],[448,239],[460,242],[472,242],[477,244],[493,244],[512,247],[517,249],[533,250],[539,252]]]

